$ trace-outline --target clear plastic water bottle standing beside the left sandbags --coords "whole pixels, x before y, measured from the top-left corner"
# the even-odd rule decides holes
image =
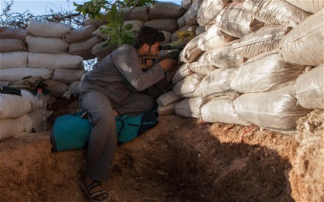
[[[35,96],[36,100],[36,120],[35,120],[35,132],[45,132],[47,130],[46,121],[46,99],[42,93],[42,89],[38,89],[38,93]]]

